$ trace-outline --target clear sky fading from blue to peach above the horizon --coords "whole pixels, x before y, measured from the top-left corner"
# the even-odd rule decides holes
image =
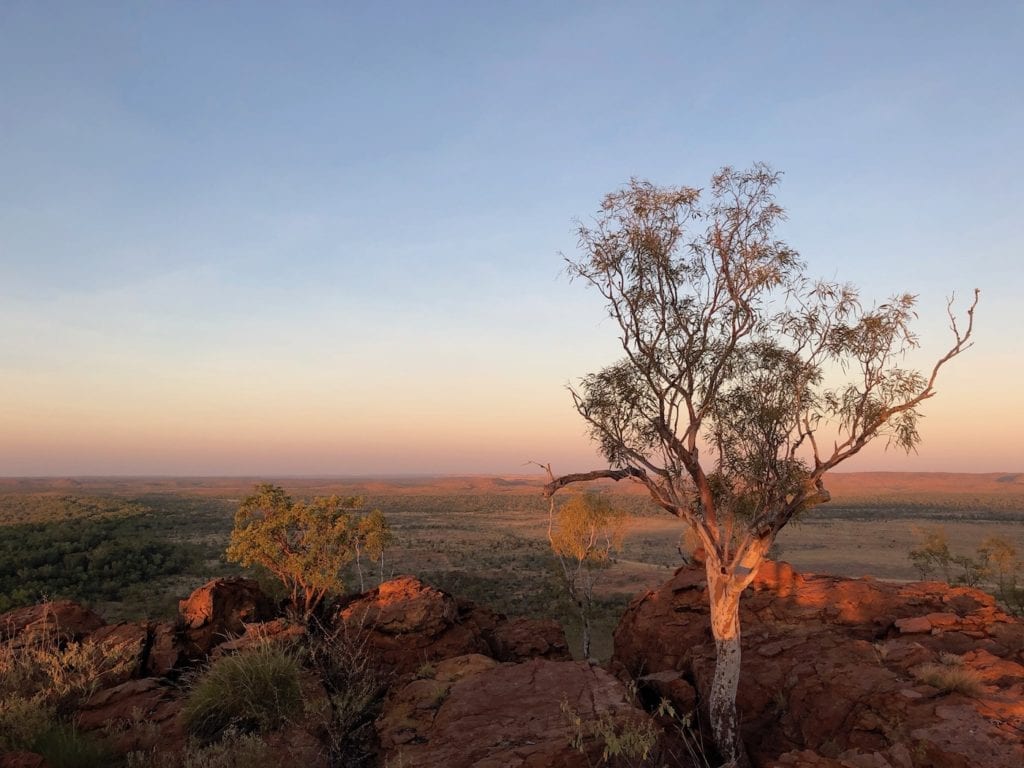
[[[981,289],[909,457],[1024,470],[1024,5],[0,2],[0,475],[603,466],[570,282],[631,177],[784,173],[869,300]]]

